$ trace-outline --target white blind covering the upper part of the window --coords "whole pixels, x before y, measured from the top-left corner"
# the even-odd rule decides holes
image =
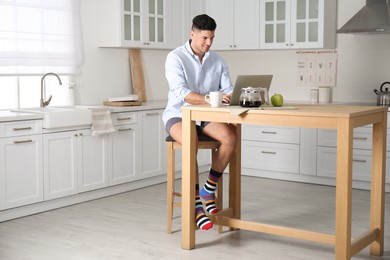
[[[78,74],[79,0],[0,0],[0,75]]]

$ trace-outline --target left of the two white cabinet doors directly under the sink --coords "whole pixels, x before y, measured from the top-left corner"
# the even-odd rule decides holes
[[[78,133],[43,135],[45,200],[76,194]]]

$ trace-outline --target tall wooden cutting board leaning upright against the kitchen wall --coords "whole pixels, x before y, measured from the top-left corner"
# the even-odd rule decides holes
[[[146,101],[144,69],[140,49],[129,49],[130,75],[134,94],[140,101]]]

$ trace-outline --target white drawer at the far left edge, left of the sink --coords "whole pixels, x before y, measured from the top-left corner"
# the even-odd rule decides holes
[[[42,120],[13,121],[0,124],[0,137],[42,134]]]

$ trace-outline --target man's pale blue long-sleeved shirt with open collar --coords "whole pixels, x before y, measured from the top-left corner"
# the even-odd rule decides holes
[[[184,98],[190,93],[206,95],[210,91],[229,94],[233,91],[229,68],[214,51],[208,51],[200,63],[190,47],[190,41],[171,51],[165,62],[165,77],[169,84],[168,104],[162,119],[164,125],[173,117],[182,117],[181,107],[190,105]]]

